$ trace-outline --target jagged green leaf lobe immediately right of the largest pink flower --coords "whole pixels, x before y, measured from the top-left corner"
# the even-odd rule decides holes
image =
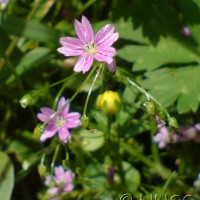
[[[194,50],[195,51],[195,50]],[[157,46],[126,45],[118,56],[133,62],[133,70],[153,70],[170,63],[199,62],[200,54],[173,38],[161,38]]]

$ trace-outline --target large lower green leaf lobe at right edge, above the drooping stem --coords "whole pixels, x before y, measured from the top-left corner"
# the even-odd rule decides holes
[[[166,68],[146,73],[147,79],[142,85],[164,106],[177,101],[179,113],[195,112],[200,102],[199,74],[199,66]]]

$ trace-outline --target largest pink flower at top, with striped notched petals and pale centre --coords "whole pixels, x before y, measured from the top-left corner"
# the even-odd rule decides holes
[[[116,50],[111,47],[119,38],[119,34],[114,32],[114,26],[107,24],[94,35],[92,26],[85,16],[81,22],[75,20],[74,27],[78,38],[62,37],[60,43],[62,47],[58,52],[65,56],[80,56],[74,66],[76,72],[87,72],[92,67],[94,59],[105,62],[111,72],[115,71]]]

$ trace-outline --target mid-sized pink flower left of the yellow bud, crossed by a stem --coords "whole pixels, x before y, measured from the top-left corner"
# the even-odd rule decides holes
[[[56,133],[58,133],[60,140],[64,143],[71,138],[69,129],[80,126],[81,121],[78,112],[69,113],[69,107],[70,105],[67,103],[67,100],[62,97],[58,102],[57,112],[51,108],[41,108],[41,113],[37,115],[38,119],[42,122],[49,120],[40,137],[42,142],[53,137]]]

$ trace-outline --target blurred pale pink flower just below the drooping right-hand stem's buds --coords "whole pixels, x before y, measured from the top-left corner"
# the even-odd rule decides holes
[[[163,126],[160,131],[154,136],[154,142],[158,143],[159,148],[165,148],[170,142],[175,143],[178,141],[177,134],[170,137],[170,132],[166,126]]]

